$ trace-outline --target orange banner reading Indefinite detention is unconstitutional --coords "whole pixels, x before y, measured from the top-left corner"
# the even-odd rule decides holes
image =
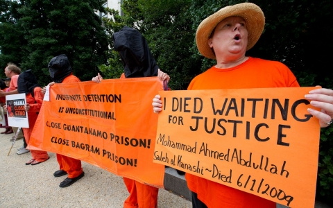
[[[29,143],[124,177],[163,187],[164,166],[153,163],[158,78],[56,84],[44,101]]]

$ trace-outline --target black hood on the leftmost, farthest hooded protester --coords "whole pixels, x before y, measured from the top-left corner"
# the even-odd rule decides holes
[[[19,74],[19,78],[17,78],[17,92],[25,94],[31,93],[31,96],[35,96],[33,94],[35,87],[40,87],[40,85],[38,85],[37,79],[31,69]]]

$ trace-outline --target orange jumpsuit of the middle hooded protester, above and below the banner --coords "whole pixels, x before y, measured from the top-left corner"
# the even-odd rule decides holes
[[[74,76],[69,75],[64,80],[62,80],[62,83],[78,83],[80,80]],[[83,172],[81,161],[79,159],[74,159],[71,157],[67,157],[65,155],[57,154],[57,160],[60,167],[60,170],[66,171],[68,173],[69,178],[78,177]]]

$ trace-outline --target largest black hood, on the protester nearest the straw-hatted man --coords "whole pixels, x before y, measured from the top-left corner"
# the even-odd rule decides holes
[[[123,61],[126,78],[157,76],[158,66],[148,48],[146,38],[139,31],[124,26],[114,33],[114,51]]]

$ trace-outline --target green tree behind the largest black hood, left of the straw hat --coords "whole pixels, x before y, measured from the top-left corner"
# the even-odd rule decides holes
[[[105,28],[110,37],[125,25],[140,31],[160,69],[171,76],[169,87],[186,89],[191,79],[200,72],[200,60],[191,58],[189,51],[195,35],[191,30],[191,17],[187,15],[190,5],[189,0],[123,1],[124,16],[109,10],[111,18],[104,19]],[[118,53],[112,51],[113,42],[110,42],[108,64],[99,69],[105,78],[119,78],[123,67]]]

